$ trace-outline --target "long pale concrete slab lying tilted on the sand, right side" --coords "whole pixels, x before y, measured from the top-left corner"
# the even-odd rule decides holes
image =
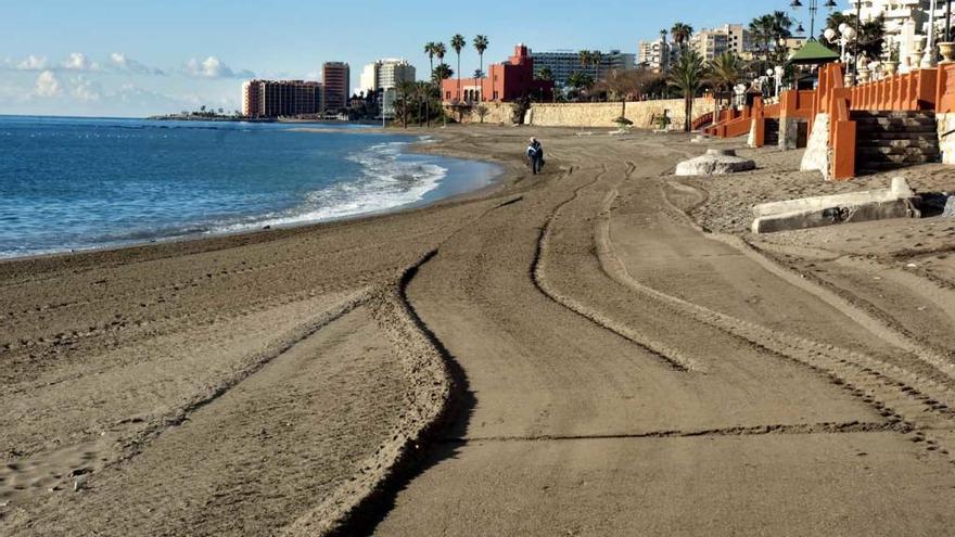
[[[884,190],[764,203],[753,207],[753,233],[818,228],[843,222],[920,218],[919,197],[905,179]]]

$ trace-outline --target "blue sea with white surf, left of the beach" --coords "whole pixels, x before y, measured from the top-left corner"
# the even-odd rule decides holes
[[[0,116],[0,256],[328,221],[498,174],[407,152],[417,137],[329,127]]]

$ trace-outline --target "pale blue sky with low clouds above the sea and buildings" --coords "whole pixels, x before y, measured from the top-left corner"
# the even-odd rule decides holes
[[[485,34],[485,61],[513,46],[635,52],[676,21],[696,28],[748,22],[789,0],[0,0],[0,114],[142,116],[239,107],[243,78],[319,79],[345,61],[357,84],[378,57],[406,57],[419,76],[426,41]],[[804,2],[806,3],[806,2]],[[843,0],[841,4],[846,4]],[[290,9],[291,7],[291,9]],[[454,66],[455,60],[451,56]],[[473,50],[462,72],[478,68]]]

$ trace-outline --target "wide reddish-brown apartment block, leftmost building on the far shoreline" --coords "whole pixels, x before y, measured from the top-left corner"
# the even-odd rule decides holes
[[[291,117],[321,112],[321,85],[305,80],[247,80],[242,84],[246,117]]]

